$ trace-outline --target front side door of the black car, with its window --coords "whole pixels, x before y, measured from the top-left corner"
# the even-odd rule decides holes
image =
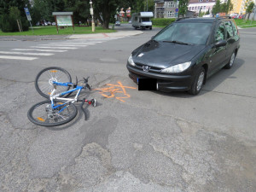
[[[226,46],[214,46],[214,44],[218,43],[221,40],[226,40],[224,23],[222,21],[220,21],[218,26],[216,27],[212,40],[212,49],[210,51],[211,53],[209,63],[209,76],[212,75],[212,73],[218,71],[218,69],[224,65],[224,61],[226,60]]]

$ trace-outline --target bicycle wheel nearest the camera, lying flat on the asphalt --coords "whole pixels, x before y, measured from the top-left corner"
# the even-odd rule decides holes
[[[55,100],[55,105],[61,104],[61,101]],[[60,108],[51,108],[50,101],[38,102],[27,112],[28,119],[41,126],[64,125],[75,118],[78,113],[77,107],[73,103],[67,103]]]

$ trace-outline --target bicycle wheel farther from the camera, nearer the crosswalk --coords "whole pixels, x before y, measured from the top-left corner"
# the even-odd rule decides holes
[[[54,89],[53,81],[61,83],[71,83],[70,74],[61,67],[47,67],[40,71],[36,77],[36,90],[41,96],[49,99],[51,91]],[[69,90],[69,86],[56,86],[55,94]],[[68,95],[67,95],[68,96]]]

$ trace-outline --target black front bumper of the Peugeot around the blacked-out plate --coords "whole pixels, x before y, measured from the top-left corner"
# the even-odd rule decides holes
[[[149,78],[157,79],[156,88],[162,91],[183,91],[189,90],[193,77],[191,75],[168,75],[164,73],[143,72],[140,69],[126,65],[129,71],[129,77],[137,83],[137,79]]]

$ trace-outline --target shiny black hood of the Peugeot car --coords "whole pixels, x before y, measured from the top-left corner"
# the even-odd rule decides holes
[[[151,67],[166,68],[191,61],[206,45],[173,44],[148,41],[133,52],[133,61]]]

